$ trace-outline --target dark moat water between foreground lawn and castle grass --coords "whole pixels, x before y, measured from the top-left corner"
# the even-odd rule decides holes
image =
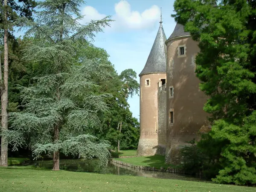
[[[52,169],[52,160],[31,161],[26,165],[34,165],[44,169]],[[99,160],[60,160],[60,169],[72,172],[91,172],[99,174],[112,174],[112,175],[131,175],[140,177],[154,177],[163,179],[177,179],[189,181],[205,181],[200,177],[192,177],[184,174],[169,173],[169,172],[152,172],[144,170],[131,169],[126,166],[112,164],[108,162],[108,166],[102,167],[99,165]]]

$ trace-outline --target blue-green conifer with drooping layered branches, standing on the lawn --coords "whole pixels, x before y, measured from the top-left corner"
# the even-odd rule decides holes
[[[108,94],[96,94],[93,81],[107,79],[109,62],[76,58],[84,42],[109,26],[109,17],[81,25],[79,5],[83,0],[45,0],[38,3],[35,21],[21,18],[29,43],[24,59],[40,64],[45,73],[35,77],[31,87],[20,87],[24,110],[11,113],[12,130],[7,132],[14,149],[26,145],[35,158],[53,156],[53,170],[59,170],[59,152],[108,160],[109,144],[87,134],[100,125]],[[93,81],[92,81],[93,80]]]

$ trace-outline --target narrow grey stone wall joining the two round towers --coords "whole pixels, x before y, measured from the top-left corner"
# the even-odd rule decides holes
[[[166,153],[166,84],[158,83],[158,122],[157,122],[157,154],[165,155]]]

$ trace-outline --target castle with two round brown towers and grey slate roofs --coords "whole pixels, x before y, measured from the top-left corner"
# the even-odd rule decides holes
[[[207,97],[195,75],[198,42],[177,23],[166,39],[162,26],[140,76],[140,140],[138,156],[165,155],[166,163],[180,162],[179,149],[197,140],[207,113]]]

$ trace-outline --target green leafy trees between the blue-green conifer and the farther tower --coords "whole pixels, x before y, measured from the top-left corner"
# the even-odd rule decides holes
[[[93,46],[91,43],[85,43],[81,46],[76,55],[79,61],[82,58],[94,59],[99,62],[109,64],[108,73],[111,76],[108,79],[97,79],[95,81],[99,87],[99,94],[111,93],[113,97],[105,98],[108,105],[108,111],[101,119],[102,126],[91,129],[90,134],[103,140],[111,142],[111,148],[117,148],[117,141],[121,140],[120,148],[137,149],[140,136],[139,122],[132,117],[127,102],[128,96],[138,93],[139,84],[136,81],[136,72],[132,69],[124,70],[118,75],[114,66],[108,60],[108,53],[102,49]],[[122,132],[117,129],[122,120]]]

